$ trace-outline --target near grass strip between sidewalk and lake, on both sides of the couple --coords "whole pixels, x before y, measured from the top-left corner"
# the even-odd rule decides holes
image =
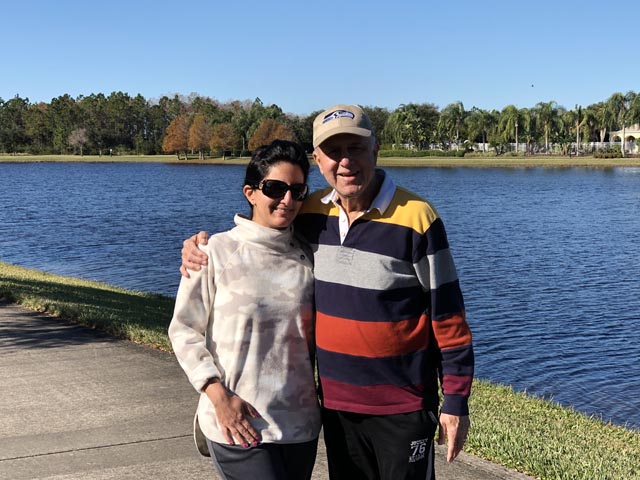
[[[0,298],[170,350],[173,300],[0,262]],[[466,451],[545,480],[640,479],[640,432],[476,380]]]

